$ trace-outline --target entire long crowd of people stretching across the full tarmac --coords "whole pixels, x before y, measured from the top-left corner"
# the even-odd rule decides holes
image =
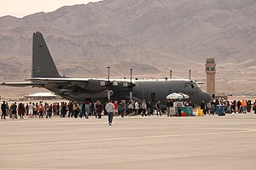
[[[167,99],[165,107],[161,107],[160,101],[156,102],[154,105],[150,101],[143,100],[139,101],[128,101],[125,100],[114,100],[113,102],[108,102],[113,104],[113,116],[162,116],[166,112],[167,116],[180,116],[181,108],[183,106],[195,107],[191,101],[175,101],[173,99]],[[1,105],[2,116],[1,119],[5,119],[9,116],[11,119],[23,119],[24,116],[29,118],[51,118],[51,116],[60,117],[74,117],[74,118],[86,118],[89,116],[95,116],[98,119],[102,118],[102,115],[108,115],[110,107],[108,103],[102,103],[100,100],[96,102],[85,101],[84,103],[78,102],[54,102],[49,104],[47,102],[29,102],[27,104],[16,102],[9,105],[7,102],[3,101]],[[205,115],[214,115],[217,113],[217,106],[224,105],[225,113],[247,113],[254,111],[256,114],[256,100],[252,103],[251,100],[212,100],[211,102],[205,104],[204,101],[201,102],[200,109],[203,110]],[[113,118],[112,118],[113,119]],[[110,124],[111,124],[111,120]]]

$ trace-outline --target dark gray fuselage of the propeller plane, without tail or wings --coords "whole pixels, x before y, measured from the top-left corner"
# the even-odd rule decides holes
[[[146,99],[155,103],[160,100],[161,104],[165,104],[166,96],[175,92],[188,94],[195,105],[200,105],[201,100],[205,100],[205,102],[211,100],[211,94],[203,92],[195,82],[189,80],[134,80],[133,83],[135,87],[132,88],[132,99],[138,101]],[[83,88],[78,88],[78,86],[73,86],[74,88],[72,88],[72,86],[72,84],[67,83],[57,87],[57,84],[49,83],[44,88],[73,101],[84,102],[86,99],[107,101],[108,99],[107,90],[99,85],[99,81],[89,80]],[[66,88],[67,90],[65,90]],[[129,93],[131,89],[124,87],[122,82],[119,82],[117,86],[113,86],[109,90],[113,100],[130,99]]]

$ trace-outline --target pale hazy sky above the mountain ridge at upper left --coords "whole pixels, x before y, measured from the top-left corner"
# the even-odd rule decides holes
[[[86,4],[100,0],[0,0],[0,16],[23,17],[38,12],[51,12],[65,5]]]

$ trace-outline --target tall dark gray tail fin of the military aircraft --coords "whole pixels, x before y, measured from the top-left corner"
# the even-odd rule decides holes
[[[33,33],[32,77],[61,77],[39,31]]]

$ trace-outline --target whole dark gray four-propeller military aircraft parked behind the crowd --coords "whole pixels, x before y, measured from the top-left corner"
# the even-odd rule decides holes
[[[202,91],[194,81],[183,79],[134,80],[132,70],[130,79],[110,79],[109,67],[108,79],[61,77],[42,33],[39,31],[33,33],[32,43],[32,77],[26,79],[29,82],[3,82],[1,85],[46,88],[72,101],[110,98],[139,101],[146,99],[152,103],[160,100],[161,104],[165,104],[166,96],[174,92],[188,94],[195,105],[200,105],[202,100],[206,103],[211,100],[211,94]]]

